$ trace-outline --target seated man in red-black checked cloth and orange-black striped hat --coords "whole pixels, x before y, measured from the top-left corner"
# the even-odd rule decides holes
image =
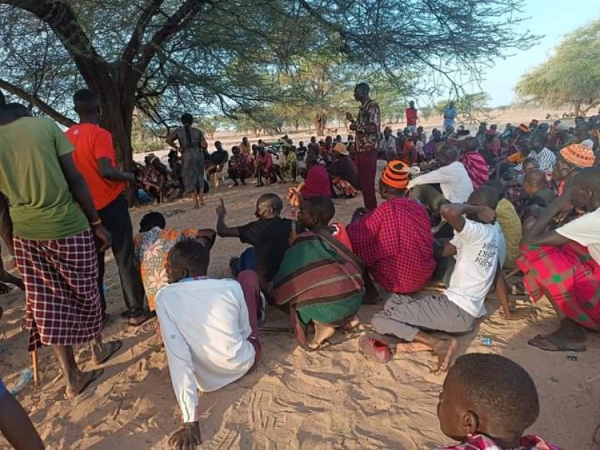
[[[406,198],[408,166],[392,161],[381,174],[379,194],[386,200],[372,212],[357,210],[348,225],[354,253],[388,292],[421,289],[435,269],[433,237],[425,208]]]

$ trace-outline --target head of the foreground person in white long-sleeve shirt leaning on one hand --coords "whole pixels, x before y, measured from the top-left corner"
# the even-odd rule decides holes
[[[198,241],[180,241],[173,245],[167,257],[169,283],[182,278],[205,276],[208,272],[210,249]]]

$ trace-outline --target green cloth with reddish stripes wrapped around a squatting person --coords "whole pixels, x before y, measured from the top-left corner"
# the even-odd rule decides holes
[[[289,303],[305,324],[343,323],[356,314],[364,294],[359,259],[325,229],[299,234],[273,280],[275,303]]]

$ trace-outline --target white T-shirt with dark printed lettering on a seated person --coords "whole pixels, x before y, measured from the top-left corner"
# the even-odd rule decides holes
[[[498,267],[506,260],[506,241],[500,225],[466,219],[463,231],[454,230],[450,243],[457,247],[457,263],[444,294],[474,318],[483,317],[486,315],[483,302]]]

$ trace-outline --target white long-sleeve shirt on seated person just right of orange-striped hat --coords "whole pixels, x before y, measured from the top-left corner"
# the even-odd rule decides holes
[[[428,174],[417,176],[408,183],[408,189],[414,186],[434,184],[439,184],[441,193],[450,203],[465,203],[473,192],[471,178],[463,163],[459,161],[432,170]]]

